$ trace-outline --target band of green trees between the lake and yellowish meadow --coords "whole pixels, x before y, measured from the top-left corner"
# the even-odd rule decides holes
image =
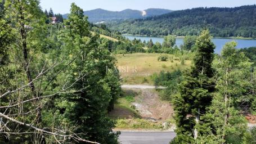
[[[122,35],[120,35],[122,37]],[[145,40],[141,42],[140,39],[134,38],[133,40],[125,39],[114,42],[113,40],[107,40],[109,43],[109,51],[115,54],[125,54],[125,53],[190,53],[195,51],[196,36],[186,36],[184,38],[184,43],[180,47],[176,45],[176,38],[173,35],[168,35],[164,37],[164,42],[161,44],[156,42],[155,44],[150,39],[148,42]]]

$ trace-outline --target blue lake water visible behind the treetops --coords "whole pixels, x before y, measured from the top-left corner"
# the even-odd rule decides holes
[[[134,35],[123,35],[124,37],[133,40],[134,38],[136,39],[141,39],[143,42],[144,40],[149,41],[152,39],[154,43],[164,42],[163,37],[142,37],[142,36],[134,36]],[[224,46],[225,43],[231,42],[232,40],[235,40],[237,42],[236,48],[245,48],[245,47],[256,47],[256,39],[231,39],[231,38],[213,38],[213,43],[215,44],[215,53],[221,53],[221,49]],[[179,47],[183,44],[183,38],[176,38],[176,45]]]

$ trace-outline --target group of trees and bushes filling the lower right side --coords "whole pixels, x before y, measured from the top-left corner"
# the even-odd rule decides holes
[[[255,143],[256,128],[248,128],[244,115],[256,111],[256,48],[236,45],[228,42],[214,54],[203,30],[190,69],[155,75],[155,85],[167,87],[161,98],[174,105],[177,136],[170,143]]]

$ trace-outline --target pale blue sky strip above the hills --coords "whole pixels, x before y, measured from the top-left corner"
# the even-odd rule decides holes
[[[52,7],[54,13],[69,13],[70,4],[75,2],[86,10],[103,8],[111,11],[121,11],[127,8],[146,10],[147,8],[165,8],[169,10],[184,10],[194,7],[235,7],[256,4],[256,0],[41,0],[43,10]]]

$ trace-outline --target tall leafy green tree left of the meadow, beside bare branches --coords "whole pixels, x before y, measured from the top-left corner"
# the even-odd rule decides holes
[[[66,72],[74,84],[74,95],[63,95],[56,100],[61,116],[74,125],[80,137],[100,143],[117,143],[118,133],[112,131],[114,122],[107,117],[113,101],[120,93],[118,77],[109,74],[115,59],[107,50],[107,42],[99,42],[99,35],[89,32],[89,22],[83,10],[71,4],[70,15],[61,34],[63,49],[74,64]],[[80,75],[80,79],[78,79]],[[113,91],[111,91],[113,90]]]

